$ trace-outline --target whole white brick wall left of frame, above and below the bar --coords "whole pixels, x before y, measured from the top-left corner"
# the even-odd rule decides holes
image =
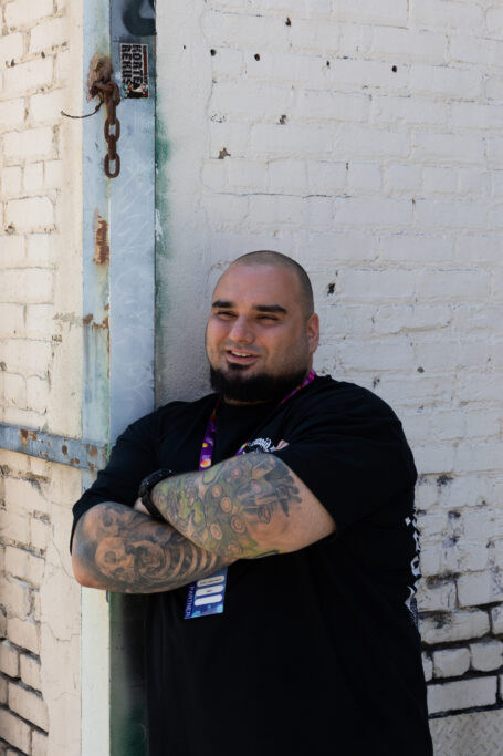
[[[82,7],[0,1],[0,421],[78,437]],[[0,451],[0,752],[80,753],[77,470]],[[15,750],[14,750],[15,748]]]

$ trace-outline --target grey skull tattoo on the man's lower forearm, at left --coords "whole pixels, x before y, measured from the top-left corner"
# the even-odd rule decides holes
[[[168,524],[112,501],[78,520],[73,551],[97,587],[154,593],[212,574],[231,561],[199,548]]]

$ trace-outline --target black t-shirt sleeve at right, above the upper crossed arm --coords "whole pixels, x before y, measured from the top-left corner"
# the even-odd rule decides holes
[[[274,454],[329,511],[337,532],[413,489],[416,468],[401,423],[366,390],[313,397],[284,441],[289,446]]]

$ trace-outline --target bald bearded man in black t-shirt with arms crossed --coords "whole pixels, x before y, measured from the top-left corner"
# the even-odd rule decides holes
[[[239,258],[207,327],[216,393],[129,426],[74,507],[77,580],[149,594],[155,756],[432,753],[412,456],[384,402],[314,376],[317,343],[305,271]]]

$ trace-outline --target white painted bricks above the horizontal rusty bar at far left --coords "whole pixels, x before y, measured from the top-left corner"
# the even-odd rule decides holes
[[[60,111],[65,91],[61,55],[67,54],[69,18],[53,0],[11,0],[2,3],[7,33],[0,41],[4,63],[0,94],[1,179],[0,268],[1,307],[19,303],[0,334],[6,364],[0,415],[7,422],[40,426],[49,401],[55,328],[38,321],[32,305],[54,301],[54,249],[63,173],[60,155]],[[33,236],[35,232],[35,236]],[[36,236],[38,235],[38,236]],[[51,238],[52,237],[52,238]],[[38,241],[43,239],[43,241]],[[42,328],[43,323],[43,328]],[[27,340],[36,335],[35,341]],[[14,338],[13,338],[14,336]],[[29,377],[22,387],[21,382]],[[14,391],[14,384],[17,387]]]

